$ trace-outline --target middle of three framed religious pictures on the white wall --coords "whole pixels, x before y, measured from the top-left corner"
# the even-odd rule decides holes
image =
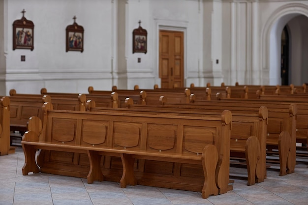
[[[76,23],[76,16],[74,16],[74,23],[66,27],[66,52],[68,51],[84,51],[84,28]]]

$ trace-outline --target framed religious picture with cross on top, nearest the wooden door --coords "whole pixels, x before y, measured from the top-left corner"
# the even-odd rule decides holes
[[[146,29],[142,29],[139,23],[139,28],[133,30],[133,53],[147,53],[147,35]]]

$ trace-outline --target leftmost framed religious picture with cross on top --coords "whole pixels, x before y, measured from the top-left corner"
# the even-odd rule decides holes
[[[34,49],[34,24],[25,18],[25,12],[24,9],[23,17],[13,23],[13,50]]]

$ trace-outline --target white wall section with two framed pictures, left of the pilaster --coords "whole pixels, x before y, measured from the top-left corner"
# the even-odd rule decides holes
[[[88,86],[111,88],[110,0],[5,0],[7,12],[7,89],[37,93],[49,91],[86,92]],[[12,50],[12,23],[25,17],[34,23],[34,50]],[[84,52],[65,51],[65,28],[83,26]],[[20,60],[21,55],[26,61]],[[27,88],[25,82],[33,85]]]

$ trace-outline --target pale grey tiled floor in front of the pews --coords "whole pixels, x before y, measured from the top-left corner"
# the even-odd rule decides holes
[[[264,182],[246,186],[234,179],[233,190],[202,199],[197,192],[128,186],[116,182],[88,184],[84,178],[30,174],[23,176],[21,148],[0,156],[0,205],[308,205],[308,160],[295,173],[279,176],[269,169]],[[246,172],[231,168],[230,174]]]

